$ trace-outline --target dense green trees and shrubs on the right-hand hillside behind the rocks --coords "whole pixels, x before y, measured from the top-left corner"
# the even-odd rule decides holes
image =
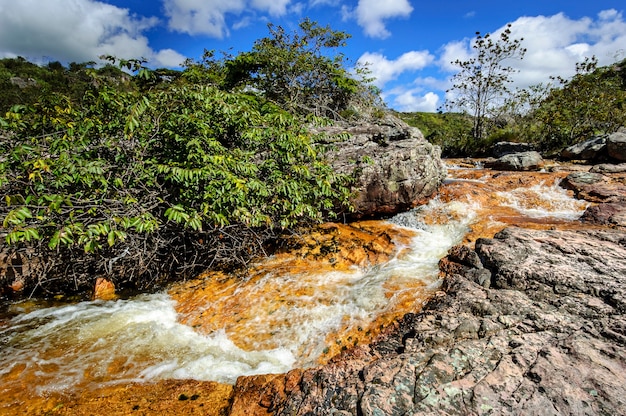
[[[554,78],[550,85],[534,85],[509,92],[482,122],[475,137],[476,119],[468,113],[400,113],[440,145],[444,156],[490,156],[499,141],[532,143],[547,155],[626,126],[626,59],[599,67],[595,57],[576,65],[571,79]]]

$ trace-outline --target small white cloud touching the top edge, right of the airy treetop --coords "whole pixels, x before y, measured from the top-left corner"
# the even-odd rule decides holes
[[[359,0],[353,16],[367,36],[385,39],[391,35],[385,27],[385,20],[395,17],[408,17],[413,7],[408,0]],[[348,16],[344,8],[344,18]]]

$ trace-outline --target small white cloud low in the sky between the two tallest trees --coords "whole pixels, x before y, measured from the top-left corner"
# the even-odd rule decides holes
[[[358,59],[360,65],[366,65],[375,78],[374,84],[383,87],[388,81],[408,71],[423,69],[434,61],[428,51],[410,51],[394,60],[387,59],[380,53],[366,52]]]

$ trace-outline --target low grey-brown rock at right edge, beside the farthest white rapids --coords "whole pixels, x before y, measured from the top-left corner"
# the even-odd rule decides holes
[[[600,173],[574,172],[567,175],[560,186],[574,191],[577,198],[590,202],[626,201],[626,186]]]

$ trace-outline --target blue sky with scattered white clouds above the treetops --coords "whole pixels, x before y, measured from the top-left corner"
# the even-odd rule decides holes
[[[577,62],[626,58],[623,0],[0,0],[0,58],[32,62],[146,58],[180,68],[205,49],[249,51],[267,24],[297,29],[304,18],[351,35],[341,49],[367,64],[388,107],[434,112],[443,106],[451,62],[472,53],[476,32],[497,36],[510,23],[523,39],[513,86],[571,77]]]

